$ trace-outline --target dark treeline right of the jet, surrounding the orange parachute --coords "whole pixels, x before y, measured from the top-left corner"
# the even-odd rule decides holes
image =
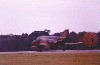
[[[100,32],[95,33],[98,37],[98,43],[94,47],[87,47],[83,41],[83,36],[87,33],[86,31],[76,33],[74,31],[69,33],[69,36],[66,37],[65,42],[68,43],[68,49],[100,49]],[[60,33],[55,33],[54,35],[59,36]],[[79,43],[79,44],[73,44],[73,43]],[[81,44],[80,44],[81,43]]]

